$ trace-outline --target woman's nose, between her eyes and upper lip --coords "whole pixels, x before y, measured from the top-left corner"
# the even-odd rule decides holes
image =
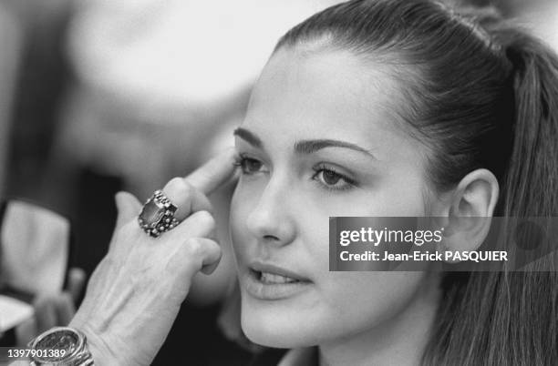
[[[247,217],[248,230],[258,239],[275,245],[294,240],[296,228],[289,190],[270,181]]]

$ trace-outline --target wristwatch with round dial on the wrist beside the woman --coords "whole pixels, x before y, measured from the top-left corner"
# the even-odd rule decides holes
[[[85,334],[69,327],[57,327],[39,334],[27,346],[31,349],[31,366],[91,366]]]

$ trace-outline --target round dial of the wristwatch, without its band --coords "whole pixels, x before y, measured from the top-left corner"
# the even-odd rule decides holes
[[[57,330],[47,334],[35,345],[34,361],[64,361],[79,347],[78,334],[71,330]]]

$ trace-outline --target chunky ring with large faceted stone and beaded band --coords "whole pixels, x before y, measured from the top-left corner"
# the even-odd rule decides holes
[[[156,190],[141,208],[138,216],[140,228],[150,237],[159,238],[163,232],[174,229],[180,223],[174,217],[177,209],[171,199],[162,191]]]

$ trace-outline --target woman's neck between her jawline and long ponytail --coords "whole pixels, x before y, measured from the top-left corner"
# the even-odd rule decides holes
[[[366,332],[320,345],[320,366],[418,365],[439,304],[439,275],[430,275],[424,289],[395,317]]]

